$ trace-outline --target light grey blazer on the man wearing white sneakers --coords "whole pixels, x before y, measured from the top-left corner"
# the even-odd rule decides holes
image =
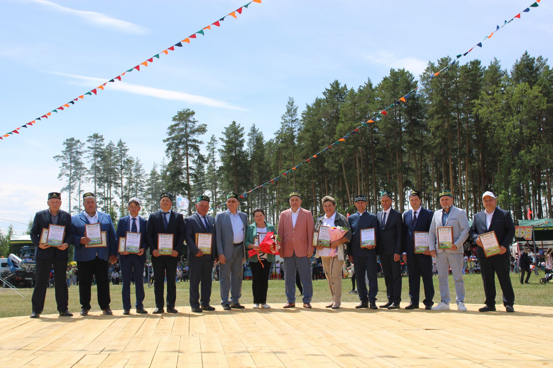
[[[428,232],[428,244],[430,250],[436,250],[436,253],[442,253],[444,250],[447,253],[463,253],[463,243],[468,238],[468,217],[464,210],[451,206],[450,214],[447,217],[447,222],[442,225],[442,214],[444,210],[437,210],[432,217],[430,231]],[[453,227],[453,244],[457,246],[456,250],[452,249],[437,249],[436,242],[436,227],[451,226]]]

